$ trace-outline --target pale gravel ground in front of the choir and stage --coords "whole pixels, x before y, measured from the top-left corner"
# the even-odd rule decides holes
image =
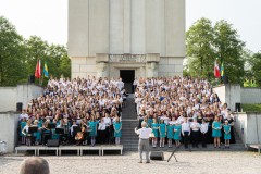
[[[170,157],[165,152],[165,159]],[[0,157],[1,174],[17,174],[26,157]],[[189,152],[181,151],[175,159],[139,164],[136,152],[124,156],[45,157],[52,174],[260,174],[261,156],[257,152]]]

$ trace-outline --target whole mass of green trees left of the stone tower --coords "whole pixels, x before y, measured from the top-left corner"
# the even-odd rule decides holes
[[[35,74],[38,59],[42,71],[47,63],[49,75],[71,77],[71,60],[64,46],[49,45],[37,36],[25,40],[8,20],[0,16],[0,86],[27,82],[28,76]],[[47,80],[45,78],[44,84]]]

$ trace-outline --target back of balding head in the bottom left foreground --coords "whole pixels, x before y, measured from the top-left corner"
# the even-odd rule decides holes
[[[22,164],[20,174],[50,174],[48,162],[40,157],[26,158]]]

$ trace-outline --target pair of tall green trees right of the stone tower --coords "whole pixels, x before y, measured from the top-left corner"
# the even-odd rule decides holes
[[[208,18],[197,21],[186,34],[188,64],[187,73],[191,76],[214,79],[214,60],[224,62],[225,76],[231,83],[244,82],[245,44],[237,30],[226,21],[216,22],[214,26]]]

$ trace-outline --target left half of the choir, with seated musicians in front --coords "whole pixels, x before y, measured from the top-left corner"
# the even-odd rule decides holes
[[[20,115],[21,144],[58,139],[65,145],[119,145],[125,99],[121,78],[49,79],[44,95],[30,100]]]

